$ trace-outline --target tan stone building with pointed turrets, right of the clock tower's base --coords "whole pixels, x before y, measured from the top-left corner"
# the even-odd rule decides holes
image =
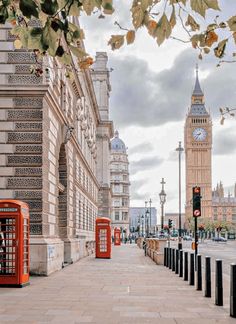
[[[212,192],[212,209],[214,221],[227,221],[236,224],[236,184],[234,194],[225,197],[222,182],[217,184]]]

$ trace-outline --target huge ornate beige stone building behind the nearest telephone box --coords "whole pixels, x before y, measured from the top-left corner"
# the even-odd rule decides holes
[[[29,204],[30,269],[49,275],[93,249],[98,197],[109,211],[107,57],[97,55],[92,75],[73,57],[73,80],[45,59],[37,77],[9,28],[0,28],[0,198]]]

